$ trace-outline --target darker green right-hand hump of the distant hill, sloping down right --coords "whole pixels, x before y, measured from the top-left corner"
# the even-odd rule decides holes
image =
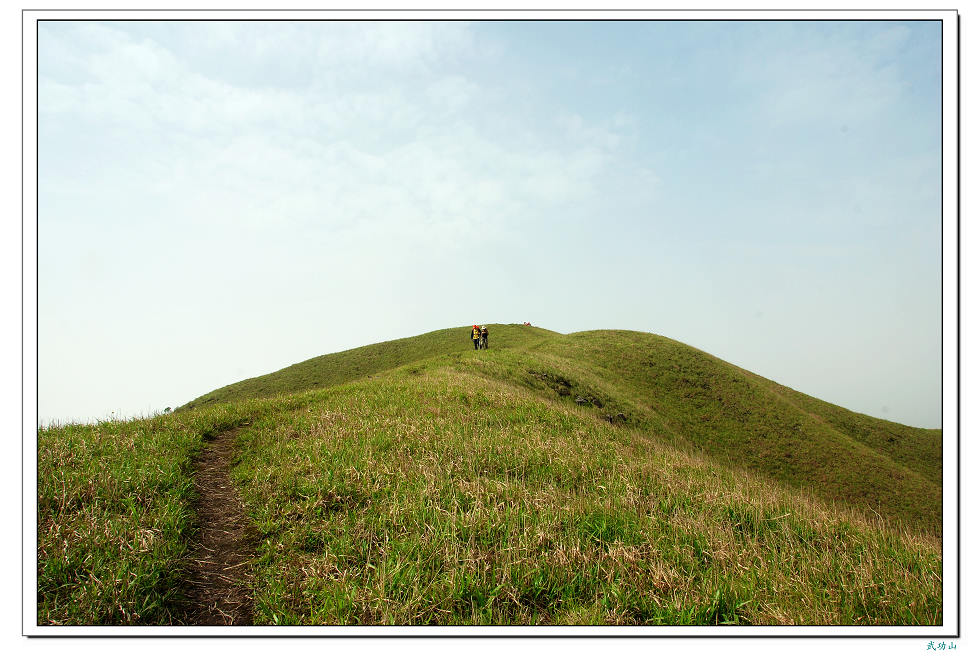
[[[656,335],[576,333],[539,351],[588,363],[594,384],[611,382],[611,395],[635,404],[634,423],[678,446],[941,533],[938,430],[849,412]]]

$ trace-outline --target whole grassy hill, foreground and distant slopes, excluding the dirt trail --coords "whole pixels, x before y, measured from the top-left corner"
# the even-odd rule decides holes
[[[179,621],[191,462],[240,427],[257,623],[941,623],[939,431],[656,335],[490,329],[39,431],[39,622]]]

